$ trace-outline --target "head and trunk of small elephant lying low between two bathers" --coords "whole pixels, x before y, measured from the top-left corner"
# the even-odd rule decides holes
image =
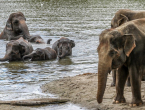
[[[30,58],[32,61],[45,60],[45,51],[41,48],[37,48],[32,53],[23,56],[23,61],[26,58]]]

